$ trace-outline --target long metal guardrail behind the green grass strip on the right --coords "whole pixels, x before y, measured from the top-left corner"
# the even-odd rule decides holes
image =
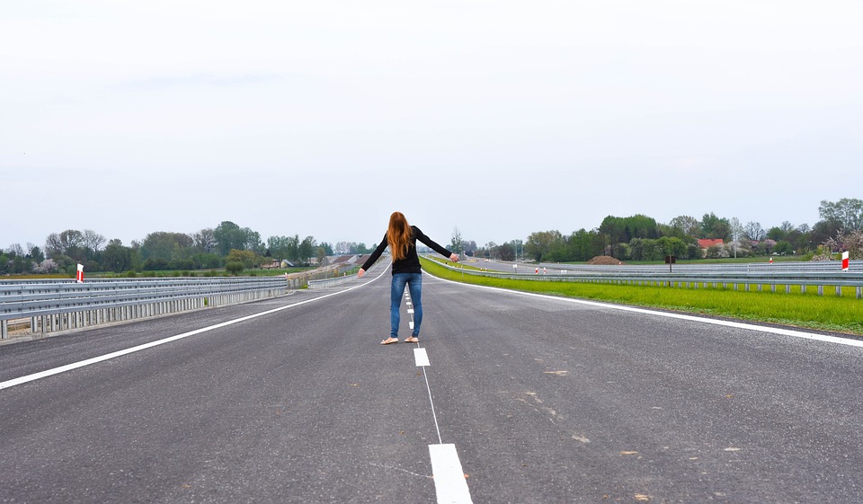
[[[790,292],[791,286],[799,286],[803,292],[806,287],[817,287],[818,294],[823,295],[824,287],[835,287],[836,295],[841,296],[842,287],[854,287],[858,299],[863,298],[863,261],[854,261],[848,271],[842,271],[835,261],[827,262],[832,266],[827,270],[822,264],[806,266],[811,263],[775,263],[764,267],[751,267],[749,264],[721,265],[675,265],[669,271],[667,265],[658,266],[584,266],[584,265],[529,265],[529,273],[509,273],[505,271],[480,271],[450,266],[438,262],[440,266],[453,271],[461,271],[467,275],[490,277],[495,279],[519,279],[550,282],[583,282],[609,283],[628,285],[652,285],[663,287],[699,288],[732,286],[735,290],[743,286],[749,290],[756,286],[770,286],[772,291],[777,286],[785,286]],[[787,266],[778,266],[783,264]],[[537,271],[538,270],[538,271]]]

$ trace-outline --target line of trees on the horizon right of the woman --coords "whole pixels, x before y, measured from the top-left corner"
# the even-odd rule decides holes
[[[707,213],[700,219],[680,216],[667,224],[652,217],[605,217],[590,231],[582,228],[565,235],[559,231],[537,231],[525,242],[486,243],[471,250],[470,243],[460,239],[458,230],[453,242],[461,243],[468,255],[480,255],[513,261],[578,262],[607,255],[620,261],[662,261],[673,255],[679,259],[752,257],[759,255],[810,255],[827,257],[830,252],[850,250],[854,259],[863,259],[859,236],[863,234],[863,200],[823,200],[818,208],[820,220],[813,226],[783,222],[769,229],[759,222],[743,224],[736,217],[717,217]],[[703,249],[699,240],[722,240]],[[454,243],[451,246],[454,246]],[[855,255],[861,255],[855,257]]]

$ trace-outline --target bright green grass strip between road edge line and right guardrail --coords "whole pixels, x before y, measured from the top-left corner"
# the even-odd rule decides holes
[[[721,284],[685,288],[494,279],[448,270],[425,258],[423,270],[467,284],[863,335],[863,300],[857,299],[853,288],[836,296],[832,287],[825,287],[824,295],[818,296],[817,287],[805,293],[796,287],[786,293],[784,286],[771,292],[770,286],[758,291],[752,285],[747,292],[742,286],[734,290]]]

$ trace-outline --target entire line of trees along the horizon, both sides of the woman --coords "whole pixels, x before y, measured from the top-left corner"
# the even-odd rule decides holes
[[[458,228],[453,232],[450,250],[467,255],[494,257],[503,261],[529,258],[535,261],[589,261],[609,255],[620,261],[661,261],[666,255],[679,259],[749,257],[766,254],[827,257],[831,252],[848,250],[853,259],[863,259],[863,200],[822,201],[820,220],[813,226],[781,225],[764,229],[760,223],[743,224],[736,217],[717,217],[708,213],[700,219],[675,217],[662,224],[652,217],[605,217],[591,230],[584,228],[564,235],[559,231],[538,231],[526,240],[485,243],[464,240]],[[699,239],[721,239],[704,251]],[[0,251],[0,274],[52,273],[75,274],[76,264],[87,271],[147,270],[228,270],[252,269],[273,260],[307,264],[314,258],[323,262],[334,254],[363,254],[374,248],[365,243],[317,243],[314,236],[302,240],[293,236],[261,235],[248,227],[223,221],[214,228],[197,233],[154,232],[129,246],[120,240],[106,240],[102,234],[85,229],[52,233],[44,247],[15,243]],[[861,251],[861,252],[858,252]],[[230,266],[230,268],[228,268]]]

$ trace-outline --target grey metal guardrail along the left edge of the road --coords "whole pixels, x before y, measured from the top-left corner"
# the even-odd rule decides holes
[[[282,296],[285,277],[21,280],[0,284],[0,338],[8,322],[31,319],[31,332],[53,332],[205,306]]]

